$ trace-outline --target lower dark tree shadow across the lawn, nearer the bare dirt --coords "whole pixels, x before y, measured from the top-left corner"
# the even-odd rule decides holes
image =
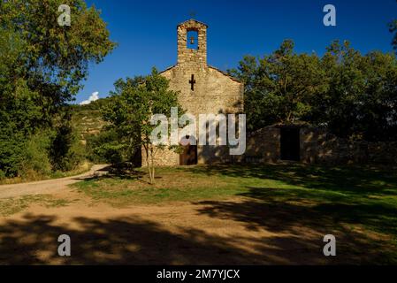
[[[271,232],[284,232],[291,226],[310,228],[338,228],[340,223],[363,225],[378,233],[387,233],[397,239],[397,210],[384,203],[300,203],[283,190],[280,197],[277,188],[249,187],[248,197],[241,202],[207,201],[195,204],[205,205],[202,214],[212,218],[229,218],[245,223],[249,229],[264,228]],[[302,197],[302,196],[300,196]],[[326,232],[324,230],[323,232]]]

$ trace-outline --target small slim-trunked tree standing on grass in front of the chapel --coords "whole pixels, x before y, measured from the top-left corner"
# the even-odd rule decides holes
[[[150,139],[157,127],[150,120],[155,114],[171,117],[172,107],[177,107],[180,115],[183,111],[178,103],[178,93],[169,89],[169,81],[157,73],[156,68],[146,78],[118,80],[115,88],[109,105],[103,110],[103,119],[111,122],[108,131],[115,131],[118,141],[103,144],[103,147],[123,150],[126,160],[143,147],[150,183],[154,183],[155,158],[166,145],[155,145]]]

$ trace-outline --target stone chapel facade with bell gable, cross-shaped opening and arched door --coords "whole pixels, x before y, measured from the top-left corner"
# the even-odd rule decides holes
[[[207,28],[195,19],[178,25],[178,62],[161,73],[170,88],[179,91],[179,103],[187,113],[237,114],[243,111],[244,87],[239,80],[207,64]],[[231,160],[225,146],[188,145],[182,154],[157,153],[157,165],[213,164]],[[146,164],[142,152],[142,164]]]

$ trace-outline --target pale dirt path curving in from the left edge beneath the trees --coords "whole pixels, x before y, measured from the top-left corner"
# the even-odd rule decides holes
[[[103,169],[105,169],[107,166],[108,165],[106,164],[94,165],[89,172],[62,179],[42,180],[14,185],[2,185],[0,186],[0,198],[57,193],[57,191],[65,189],[68,185],[92,178],[95,175],[106,173],[103,171]]]

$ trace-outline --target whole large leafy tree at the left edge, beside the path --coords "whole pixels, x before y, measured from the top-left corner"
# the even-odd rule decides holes
[[[57,24],[60,4],[72,26]],[[87,78],[116,45],[99,11],[82,0],[0,1],[0,171],[16,176],[25,143],[53,126]],[[66,122],[67,124],[67,122]]]

